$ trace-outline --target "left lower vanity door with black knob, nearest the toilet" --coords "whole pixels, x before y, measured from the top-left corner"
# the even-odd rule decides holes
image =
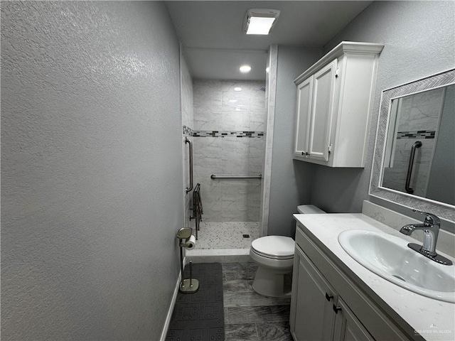
[[[336,293],[297,246],[292,287],[290,325],[294,340],[333,340]]]

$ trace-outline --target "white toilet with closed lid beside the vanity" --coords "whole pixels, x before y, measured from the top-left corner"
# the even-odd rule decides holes
[[[299,213],[325,213],[313,205],[300,205]],[[284,290],[284,275],[291,274],[294,264],[294,239],[284,236],[266,236],[253,240],[250,256],[259,266],[253,289],[264,296],[283,297],[290,295]]]

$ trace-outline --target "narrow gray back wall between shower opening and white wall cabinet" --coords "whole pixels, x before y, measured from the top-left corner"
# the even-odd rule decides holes
[[[309,204],[313,165],[294,161],[294,79],[321,58],[321,50],[292,46],[278,47],[277,97],[274,120],[272,178],[268,234],[294,237],[292,214],[297,205]],[[323,207],[321,207],[323,208]]]

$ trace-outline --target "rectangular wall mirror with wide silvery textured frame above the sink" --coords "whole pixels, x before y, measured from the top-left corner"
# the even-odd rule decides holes
[[[370,195],[455,222],[455,69],[382,91]]]

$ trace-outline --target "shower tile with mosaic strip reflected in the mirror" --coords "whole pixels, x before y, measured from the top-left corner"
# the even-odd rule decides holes
[[[382,185],[405,191],[407,167],[412,144],[421,141],[416,149],[410,187],[414,195],[425,196],[432,166],[439,120],[444,104],[444,89],[404,97],[401,102],[393,167],[385,168]]]

